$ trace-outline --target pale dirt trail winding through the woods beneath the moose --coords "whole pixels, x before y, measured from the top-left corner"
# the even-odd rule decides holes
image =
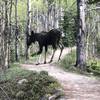
[[[56,78],[63,87],[65,97],[60,100],[100,100],[100,80],[95,77],[79,75],[64,71],[54,63],[57,62],[59,50],[56,51],[54,62],[51,64],[21,64],[24,69],[47,71]],[[62,57],[70,53],[71,49],[65,48]],[[48,57],[49,58],[49,57]]]

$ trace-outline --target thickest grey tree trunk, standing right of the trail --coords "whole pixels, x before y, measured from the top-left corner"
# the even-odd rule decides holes
[[[84,69],[86,65],[85,57],[85,0],[77,0],[77,59],[76,66]]]

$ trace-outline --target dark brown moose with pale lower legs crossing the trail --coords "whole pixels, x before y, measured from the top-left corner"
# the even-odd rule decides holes
[[[45,47],[44,64],[46,64],[46,53],[48,50],[48,46],[51,45],[53,48],[53,54],[52,54],[52,57],[51,57],[49,63],[51,63],[53,61],[55,51],[56,51],[57,47],[59,46],[59,48],[61,49],[59,59],[58,59],[58,61],[59,61],[62,51],[63,51],[63,48],[64,48],[62,42],[60,41],[61,36],[62,36],[62,33],[58,29],[52,29],[49,32],[41,32],[41,33],[34,33],[34,31],[32,30],[31,35],[28,36],[27,47],[29,48],[29,46],[32,43],[35,43],[37,41],[39,44],[39,51],[36,53],[37,55],[40,55],[43,51],[43,47]]]

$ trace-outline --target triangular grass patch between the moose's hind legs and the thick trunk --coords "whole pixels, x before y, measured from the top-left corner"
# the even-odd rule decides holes
[[[63,68],[67,72],[77,73],[89,75],[86,71],[82,71],[81,69],[75,67],[76,63],[76,50],[72,50],[69,54],[67,54],[58,65]]]

